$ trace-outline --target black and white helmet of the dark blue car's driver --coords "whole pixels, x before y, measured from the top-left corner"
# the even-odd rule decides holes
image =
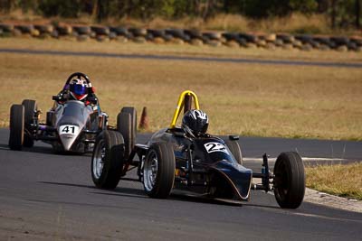
[[[209,126],[209,117],[199,109],[192,109],[182,118],[182,128],[186,133],[193,135],[205,134]]]

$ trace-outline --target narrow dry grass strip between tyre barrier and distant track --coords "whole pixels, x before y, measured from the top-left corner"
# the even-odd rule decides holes
[[[302,60],[302,61],[327,61],[327,62],[361,62],[360,52],[348,51],[299,51],[296,49],[276,51],[265,49],[245,49],[233,47],[212,47],[209,45],[193,46],[190,44],[145,44],[136,42],[77,42],[74,38],[33,39],[33,38],[0,38],[1,48],[51,50],[51,51],[92,51],[119,54],[157,54],[180,56],[203,56],[219,58],[241,58],[260,60]]]

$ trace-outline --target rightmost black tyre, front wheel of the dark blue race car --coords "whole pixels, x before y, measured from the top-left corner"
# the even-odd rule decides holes
[[[300,155],[281,153],[274,165],[274,195],[282,209],[297,209],[304,199],[305,174]]]

